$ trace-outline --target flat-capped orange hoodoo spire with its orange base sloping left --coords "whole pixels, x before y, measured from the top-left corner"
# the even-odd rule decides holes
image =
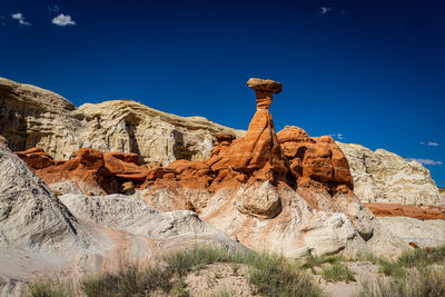
[[[269,113],[273,93],[280,91],[280,83],[271,80],[249,80],[256,91],[257,111],[245,138],[217,133],[211,157],[204,161],[178,160],[166,168],[154,168],[147,184],[177,184],[179,187],[208,188],[240,186],[254,181],[285,181],[288,161],[274,128]]]

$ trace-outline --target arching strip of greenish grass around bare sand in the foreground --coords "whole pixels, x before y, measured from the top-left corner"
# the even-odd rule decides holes
[[[157,265],[145,269],[132,267],[117,274],[102,274],[82,281],[87,296],[140,296],[161,289],[175,296],[188,296],[184,277],[206,265],[230,263],[249,267],[248,279],[254,294],[261,296],[322,296],[323,290],[298,266],[281,256],[256,254],[217,247],[194,247],[158,258]],[[160,269],[160,267],[162,267]],[[221,296],[230,296],[230,291]]]

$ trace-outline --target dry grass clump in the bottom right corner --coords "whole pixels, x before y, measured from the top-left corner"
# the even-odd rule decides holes
[[[445,269],[421,267],[390,279],[365,283],[360,297],[439,297],[445,296]]]

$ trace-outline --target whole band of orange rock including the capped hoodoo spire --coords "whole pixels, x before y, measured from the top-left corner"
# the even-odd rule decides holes
[[[177,160],[164,168],[147,169],[139,166],[136,154],[80,149],[69,161],[55,161],[41,149],[18,155],[47,184],[71,179],[92,185],[106,194],[119,191],[120,185],[127,181],[137,188],[198,188],[210,192],[224,187],[269,181],[273,186],[285,182],[294,189],[319,188],[333,196],[349,192],[353,182],[348,162],[333,138],[312,138],[297,127],[275,132],[269,107],[274,93],[281,91],[281,83],[249,79],[247,85],[255,90],[257,110],[246,137],[235,139],[233,135],[215,133],[215,149],[210,158],[202,161]],[[249,201],[244,205],[249,209],[257,208],[249,206]],[[275,211],[277,206],[271,208]],[[261,211],[257,215],[261,216]]]

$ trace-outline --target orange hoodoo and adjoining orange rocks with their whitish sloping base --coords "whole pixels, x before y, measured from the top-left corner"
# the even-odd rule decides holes
[[[209,159],[151,168],[141,196],[147,205],[162,211],[192,206],[243,245],[287,257],[404,250],[407,245],[385,231],[352,192],[347,161],[334,140],[310,138],[295,127],[277,137],[268,108],[280,85],[258,79],[248,85],[257,111],[246,137],[216,135]]]

